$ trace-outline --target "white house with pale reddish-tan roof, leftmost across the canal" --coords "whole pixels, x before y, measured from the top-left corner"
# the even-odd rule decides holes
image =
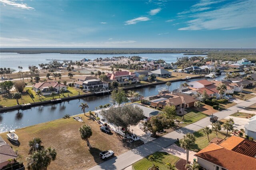
[[[60,83],[58,84],[56,81],[46,81],[46,82],[39,82],[34,84],[33,86],[34,91],[42,91],[43,95],[50,95],[52,92],[59,93],[60,89],[67,90],[66,85]],[[50,89],[52,87],[52,89]]]

